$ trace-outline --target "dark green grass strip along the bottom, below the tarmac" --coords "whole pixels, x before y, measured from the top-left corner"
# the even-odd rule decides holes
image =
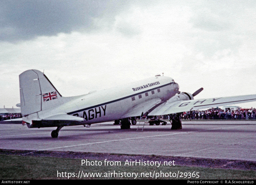
[[[88,161],[93,161],[94,165],[86,166],[84,164],[81,166],[81,159],[0,154],[0,179],[68,179],[68,176],[70,175],[74,177],[69,177],[69,179],[134,179],[135,174],[137,174],[136,179],[156,179],[157,173],[159,175],[157,179],[255,179],[256,177],[256,171],[252,170],[226,170],[202,167],[185,167],[178,165],[159,167],[150,165],[129,166],[127,163],[125,165],[125,161],[121,161],[121,165],[117,165],[116,163],[116,166],[111,166],[109,163],[108,166],[105,166],[104,161],[102,160],[102,165],[96,166],[95,160]],[[59,172],[59,176],[64,177],[57,177],[57,171]],[[117,177],[113,177],[114,171],[116,172],[115,176]],[[124,172],[126,172],[126,177]],[[160,177],[161,172],[162,177]],[[177,178],[178,172],[179,176]],[[199,178],[188,178],[189,174],[187,174],[187,177],[185,178],[186,173],[189,172],[191,175],[193,172],[195,172],[194,174],[199,172]],[[100,173],[101,177],[96,177],[96,174],[99,175]],[[128,177],[129,173],[131,177]],[[152,177],[153,173],[154,177]],[[175,173],[176,177],[170,177],[170,173],[172,176],[174,176]],[[78,174],[80,174],[79,178],[77,178]],[[81,174],[82,178],[80,178]],[[166,177],[167,174],[168,177]],[[84,177],[84,175],[86,175],[86,177]]]

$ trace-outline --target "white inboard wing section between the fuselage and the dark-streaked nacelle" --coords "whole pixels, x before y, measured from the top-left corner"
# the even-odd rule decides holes
[[[133,106],[122,117],[140,116],[142,112],[145,114],[147,111],[149,111],[151,108],[154,108],[154,106],[157,106],[159,103],[161,103],[160,98],[153,98],[144,101],[140,104]]]

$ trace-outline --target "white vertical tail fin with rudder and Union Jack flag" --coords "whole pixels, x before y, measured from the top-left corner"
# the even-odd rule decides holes
[[[41,71],[32,69],[19,75],[20,108],[27,116],[62,104],[62,96]]]

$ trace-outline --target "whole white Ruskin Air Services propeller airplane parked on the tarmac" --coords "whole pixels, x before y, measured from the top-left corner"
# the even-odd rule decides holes
[[[64,126],[90,125],[121,120],[121,129],[129,129],[129,117],[158,116],[200,110],[216,106],[256,101],[256,94],[194,100],[193,94],[180,92],[170,77],[155,77],[122,86],[63,97],[41,71],[32,69],[19,75],[22,123],[28,128],[57,127],[57,138]],[[134,120],[132,120],[133,122]],[[136,123],[136,121],[135,121]],[[181,126],[180,120],[172,125]],[[180,124],[180,125],[178,125]]]

